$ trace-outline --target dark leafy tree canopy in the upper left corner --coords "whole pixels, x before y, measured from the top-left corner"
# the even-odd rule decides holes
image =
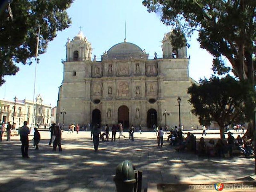
[[[38,54],[46,52],[49,41],[56,37],[57,31],[70,26],[71,19],[66,10],[73,1],[12,0],[12,14],[8,11],[8,1],[4,1],[1,6],[4,9],[0,12],[0,86],[5,75],[15,75],[19,71],[17,63],[32,63],[39,26]]]

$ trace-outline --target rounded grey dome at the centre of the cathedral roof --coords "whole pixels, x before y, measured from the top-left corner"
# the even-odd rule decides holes
[[[108,55],[121,55],[121,54],[129,54],[129,55],[137,55],[141,54],[142,49],[138,45],[135,45],[133,43],[119,43],[114,45],[108,50]]]

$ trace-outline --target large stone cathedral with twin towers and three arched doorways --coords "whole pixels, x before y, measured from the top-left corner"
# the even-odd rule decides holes
[[[152,60],[145,50],[124,39],[96,61],[81,31],[68,39],[56,122],[62,123],[60,113],[65,110],[65,126],[122,123],[125,128],[131,124],[152,128],[153,124],[164,126],[165,121],[178,126],[180,97],[181,124],[185,129],[196,127],[198,118],[190,113],[188,103],[187,88],[195,81],[188,76],[186,47],[175,54],[170,35],[165,34],[162,41],[163,58],[155,53]]]

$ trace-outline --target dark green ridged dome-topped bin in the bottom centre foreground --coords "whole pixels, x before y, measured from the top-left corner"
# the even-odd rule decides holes
[[[134,192],[134,185],[136,183],[134,170],[135,167],[128,160],[117,165],[116,175],[114,176],[116,192]]]

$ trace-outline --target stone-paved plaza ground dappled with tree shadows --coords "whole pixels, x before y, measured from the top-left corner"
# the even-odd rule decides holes
[[[100,142],[98,152],[93,150],[90,132],[64,132],[61,153],[48,146],[49,135],[41,132],[39,150],[34,150],[29,137],[29,159],[21,158],[18,136],[10,142],[3,138],[0,191],[115,191],[116,166],[126,159],[143,171],[143,188],[147,183],[228,182],[254,173],[254,159],[178,153],[167,143],[157,147],[153,132],[136,132],[134,142],[125,132],[125,139]]]

